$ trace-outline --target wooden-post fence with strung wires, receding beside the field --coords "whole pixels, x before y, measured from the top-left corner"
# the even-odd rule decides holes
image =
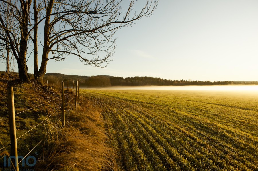
[[[77,80],[77,82],[79,82],[79,80]],[[79,83],[77,83],[77,87],[76,87],[76,89],[78,88],[78,93],[79,93]],[[69,94],[70,92],[68,92],[68,93],[66,93],[66,94],[64,94],[64,83],[62,83],[62,89],[63,89],[63,91],[62,91],[62,107],[64,107],[66,104],[68,104],[69,102],[71,102],[71,100],[73,100],[73,98],[74,97],[76,97],[76,100],[75,101],[77,101],[77,98],[79,98],[79,96],[77,96],[77,91],[76,91],[76,95],[75,96],[73,96],[67,103],[65,103],[64,104],[64,96],[66,95],[66,94]],[[12,91],[11,91],[12,90]],[[59,97],[61,97],[61,96],[58,96],[58,97],[56,97],[56,98],[59,98]],[[17,114],[20,114],[20,113],[22,113],[22,112],[25,112],[25,111],[28,111],[28,110],[31,110],[31,109],[33,109],[33,108],[36,108],[36,107],[39,107],[39,106],[41,106],[41,105],[43,105],[43,104],[46,104],[46,103],[48,103],[48,102],[51,102],[52,100],[55,100],[56,98],[53,98],[52,100],[49,100],[49,101],[47,101],[47,102],[45,102],[45,103],[42,103],[42,104],[40,104],[40,105],[38,105],[38,106],[35,106],[35,107],[32,107],[32,108],[30,108],[30,109],[27,109],[27,110],[24,110],[24,111],[22,111],[22,112],[19,112],[19,113],[17,113],[17,114],[15,114],[14,112],[15,112],[15,108],[14,108],[14,98],[13,98],[14,96],[13,96],[13,87],[9,87],[8,88],[8,112],[9,112],[9,115],[10,114],[13,114],[13,120],[9,120],[9,122],[10,122],[10,138],[11,138],[11,154],[12,155],[14,155],[15,156],[15,164],[19,164],[21,161],[23,161],[24,160],[24,158],[26,157],[26,156],[28,156],[28,154],[30,154],[30,152],[32,152],[32,150],[34,150],[34,148],[36,148],[36,146],[38,145],[38,144],[40,144],[40,142],[42,142],[42,140],[52,131],[52,129],[60,122],[60,120],[63,120],[63,126],[64,126],[64,120],[65,120],[65,117],[64,117],[64,109],[63,109],[63,115],[62,115],[62,118],[53,126],[53,128],[42,138],[42,140],[40,140],[39,142],[38,142],[38,144],[36,144],[36,146],[34,146],[33,148],[32,148],[32,150],[30,150],[30,152],[28,153],[28,154],[26,154],[26,156],[24,156],[23,157],[23,159],[19,162],[18,161],[18,154],[17,154],[17,140],[19,139],[19,138],[21,138],[22,136],[24,136],[24,135],[26,135],[28,132],[30,132],[31,130],[33,130],[34,128],[36,128],[38,125],[40,125],[40,124],[42,124],[45,120],[47,120],[48,118],[50,118],[50,116],[52,116],[54,113],[56,113],[60,108],[62,108],[62,107],[60,107],[60,108],[58,108],[55,112],[53,112],[52,114],[50,114],[47,118],[45,118],[42,122],[40,122],[39,124],[37,124],[36,126],[34,126],[32,129],[30,129],[30,130],[28,130],[26,133],[24,133],[23,135],[21,135],[19,138],[16,138],[16,134],[15,134],[15,136],[13,135],[14,133],[13,132],[11,132],[11,128],[12,128],[12,130],[16,130],[16,126],[15,126],[15,115],[17,115]],[[75,109],[76,109],[76,102],[74,102],[73,103],[73,105],[75,104]],[[65,112],[65,114],[67,114],[68,112],[69,112],[69,110],[73,107],[73,105],[67,110],[67,112]],[[9,116],[9,118],[10,118],[10,116]],[[13,137],[15,137],[15,138],[13,138]],[[1,142],[1,144],[3,145],[3,143]],[[13,150],[12,149],[15,149],[16,148],[16,152],[13,152]],[[3,149],[5,149],[5,151],[6,151],[6,148],[5,148],[5,146],[3,145],[3,148],[1,148],[0,150],[3,150]],[[8,153],[9,154],[9,153]],[[9,156],[9,155],[8,155]],[[4,157],[4,156],[3,156]],[[9,156],[9,158],[10,158],[10,156]],[[11,159],[10,159],[11,160]],[[11,161],[12,162],[12,165],[13,165],[13,161]],[[19,165],[17,164],[17,166],[15,166],[14,167],[14,165],[13,165],[13,168],[16,168],[15,170],[19,170]]]

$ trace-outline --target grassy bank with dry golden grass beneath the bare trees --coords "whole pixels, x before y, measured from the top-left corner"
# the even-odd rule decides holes
[[[58,87],[16,84],[11,78],[2,77],[0,81],[0,140],[3,145],[0,144],[0,149],[3,146],[5,148],[1,149],[0,153],[4,151],[10,153],[7,110],[7,86],[9,85],[14,86],[15,113],[60,96]],[[65,103],[69,102],[73,96],[73,93],[67,94]],[[18,155],[34,156],[37,160],[34,166],[36,170],[116,170],[114,160],[116,154],[107,144],[105,121],[100,114],[100,109],[81,96],[77,110],[74,110],[74,99],[72,99],[65,107],[66,126],[63,128],[60,122],[61,110],[58,110],[60,103],[59,97],[15,116],[17,138],[21,136],[17,140]],[[0,170],[7,169],[3,167],[3,156],[0,157]],[[20,166],[20,168],[30,167]]]

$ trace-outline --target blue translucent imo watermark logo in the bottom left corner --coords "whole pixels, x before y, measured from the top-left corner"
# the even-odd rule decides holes
[[[9,154],[7,151],[2,152],[2,153],[0,154],[0,156],[2,156],[2,155],[4,155],[4,154],[10,156],[10,154]],[[4,164],[4,167],[11,167],[11,159],[15,159],[15,156],[10,156],[10,157],[8,157],[8,165],[7,165],[7,157],[4,156],[4,163],[3,163],[3,164]],[[34,156],[28,156],[28,157],[26,157],[26,160],[25,160],[25,158],[24,158],[23,156],[18,156],[18,160],[19,160],[19,159],[21,159],[22,167],[25,166],[25,163],[26,163],[27,166],[33,167],[33,166],[36,165],[36,162],[37,162],[37,159],[36,159],[36,157],[34,157]],[[30,159],[31,159],[31,160],[30,160]],[[33,160],[33,162],[30,163],[29,160],[30,160],[30,162]],[[15,161],[14,166],[17,166],[17,164],[18,164],[18,163]]]

